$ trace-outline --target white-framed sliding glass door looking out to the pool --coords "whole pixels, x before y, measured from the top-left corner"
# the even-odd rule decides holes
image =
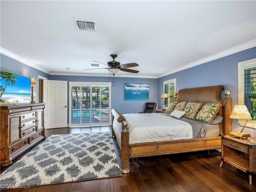
[[[110,125],[111,83],[70,82],[70,126]]]

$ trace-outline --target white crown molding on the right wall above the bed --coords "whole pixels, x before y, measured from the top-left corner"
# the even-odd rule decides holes
[[[169,75],[169,74],[173,74],[173,73],[175,73],[175,72],[183,71],[183,70],[185,70],[185,69],[189,69],[189,68],[191,68],[191,67],[195,67],[195,66],[197,66],[197,65],[201,65],[201,64],[204,64],[204,63],[207,63],[207,62],[210,62],[210,61],[214,61],[214,60],[216,60],[216,59],[220,59],[220,58],[222,58],[222,57],[226,57],[226,56],[228,56],[228,55],[232,55],[232,54],[234,54],[234,53],[238,53],[238,52],[240,52],[240,51],[244,51],[244,50],[246,50],[246,49],[250,49],[250,48],[255,47],[255,46],[256,46],[256,39],[254,39],[254,40],[252,40],[252,41],[248,41],[247,43],[243,43],[243,44],[238,45],[238,46],[236,46],[236,47],[227,49],[227,50],[222,51],[222,52],[220,52],[220,53],[217,53],[217,54],[215,54],[215,55],[211,55],[211,56],[206,57],[206,58],[204,58],[204,59],[200,59],[200,60],[195,61],[195,62],[193,62],[193,63],[189,63],[189,64],[184,65],[184,66],[182,66],[182,67],[178,67],[178,68],[176,68],[176,69],[174,69],[174,70],[172,70],[172,71],[168,71],[168,72],[166,72],[166,73],[160,74],[160,75],[158,76],[158,78],[163,77],[163,76],[166,76],[166,75]]]

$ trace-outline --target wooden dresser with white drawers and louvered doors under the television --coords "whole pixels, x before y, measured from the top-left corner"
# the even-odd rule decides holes
[[[0,165],[45,139],[44,103],[0,106]]]

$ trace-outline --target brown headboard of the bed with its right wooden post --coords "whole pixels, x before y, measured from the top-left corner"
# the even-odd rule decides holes
[[[229,98],[230,104],[227,106],[225,100],[221,99],[221,92],[224,90],[223,85],[217,86],[208,86],[208,87],[196,87],[196,88],[187,88],[180,89],[177,94],[175,101],[194,101],[194,102],[204,102],[204,103],[215,103],[221,102],[222,107],[218,112],[218,115],[223,117],[223,121],[220,125],[220,135],[227,135],[231,130],[231,121],[230,121],[230,105],[232,108],[232,100]]]

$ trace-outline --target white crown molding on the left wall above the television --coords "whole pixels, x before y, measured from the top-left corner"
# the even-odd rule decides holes
[[[12,58],[16,61],[19,61],[20,63],[24,63],[25,65],[28,65],[28,66],[33,67],[35,69],[38,69],[39,71],[45,72],[47,74],[49,74],[49,72],[50,72],[50,71],[48,71],[48,70],[46,70],[42,67],[39,67],[38,65],[35,65],[35,64],[31,63],[30,61],[28,61],[28,60],[26,60],[26,59],[24,59],[24,58],[22,58],[22,57],[20,57],[16,54],[10,52],[10,51],[2,48],[2,47],[0,47],[0,53],[2,53],[3,55],[6,55],[7,57],[10,57],[10,58]]]

